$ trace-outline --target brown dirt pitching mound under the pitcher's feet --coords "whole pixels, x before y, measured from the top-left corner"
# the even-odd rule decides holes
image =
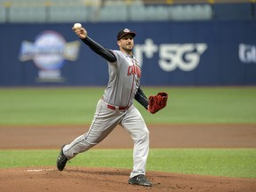
[[[252,192],[253,179],[199,176],[167,172],[147,172],[153,187],[127,184],[130,171],[114,168],[76,168],[59,172],[55,167],[0,169],[0,191],[184,191]]]

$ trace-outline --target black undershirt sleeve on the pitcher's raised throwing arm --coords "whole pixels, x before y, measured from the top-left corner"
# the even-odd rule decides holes
[[[116,62],[116,56],[112,51],[93,41],[92,38],[90,38],[89,36],[86,36],[84,39],[82,39],[82,41],[84,42],[84,44],[87,44],[93,52],[96,52],[102,58],[108,60],[108,62]]]

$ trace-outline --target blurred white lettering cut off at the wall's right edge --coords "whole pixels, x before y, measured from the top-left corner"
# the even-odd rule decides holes
[[[239,44],[238,54],[243,63],[256,63],[256,45]]]

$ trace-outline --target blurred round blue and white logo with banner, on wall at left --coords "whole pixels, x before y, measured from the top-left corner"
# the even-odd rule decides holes
[[[20,60],[33,60],[38,68],[38,81],[63,82],[60,68],[65,60],[76,60],[80,42],[67,43],[55,31],[43,31],[36,36],[35,43],[23,41],[20,46]]]

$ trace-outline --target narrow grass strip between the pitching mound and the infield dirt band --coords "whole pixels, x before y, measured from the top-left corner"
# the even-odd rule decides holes
[[[0,168],[56,166],[59,150],[0,150]],[[200,175],[256,178],[255,149],[153,148],[147,170]],[[92,149],[70,166],[132,168],[132,149]]]

